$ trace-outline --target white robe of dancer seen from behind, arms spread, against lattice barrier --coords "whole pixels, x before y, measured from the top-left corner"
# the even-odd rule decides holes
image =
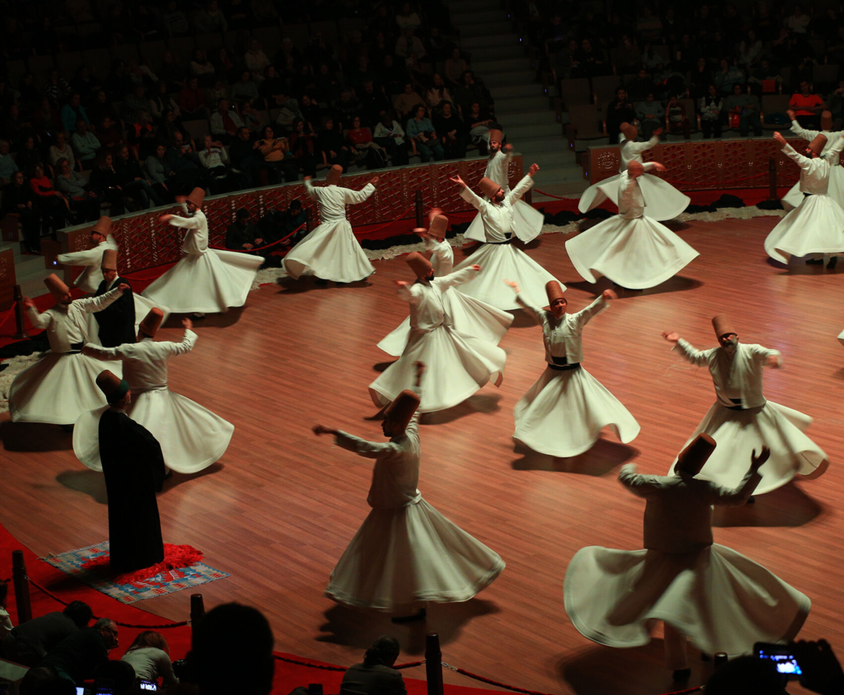
[[[346,206],[364,202],[375,192],[366,184],[360,191],[342,186],[313,186],[305,180],[305,191],[320,204],[322,224],[284,256],[284,270],[298,280],[313,275],[335,283],[355,283],[375,272],[371,262],[354,238],[352,225],[346,219]]]

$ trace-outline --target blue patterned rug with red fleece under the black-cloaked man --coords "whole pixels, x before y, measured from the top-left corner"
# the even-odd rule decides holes
[[[224,579],[229,573],[199,562],[202,552],[165,543],[164,562],[154,567],[114,574],[108,567],[108,541],[41,558],[91,588],[122,603],[134,603]]]

